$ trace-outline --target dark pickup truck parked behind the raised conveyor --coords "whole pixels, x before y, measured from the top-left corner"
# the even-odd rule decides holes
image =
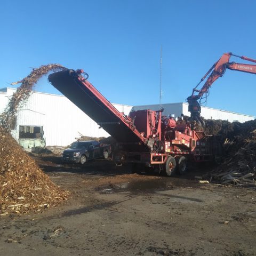
[[[102,145],[99,141],[75,141],[62,153],[63,162],[85,164],[88,160],[95,158],[107,159],[111,154],[110,145]]]

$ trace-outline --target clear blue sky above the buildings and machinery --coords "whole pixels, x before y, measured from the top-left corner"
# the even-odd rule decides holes
[[[157,104],[162,44],[162,102],[185,102],[222,53],[256,59],[255,10],[248,0],[3,0],[0,87],[60,63],[83,68],[111,102]],[[35,90],[59,93],[46,78]],[[255,116],[255,91],[256,75],[227,70],[206,106]]]

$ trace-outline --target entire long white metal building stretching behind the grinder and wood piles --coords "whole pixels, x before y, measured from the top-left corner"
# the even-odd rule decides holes
[[[16,91],[13,88],[0,89],[0,113]],[[127,106],[113,103],[117,110],[128,115],[133,110],[159,110],[159,105]],[[164,115],[181,113],[189,115],[187,103],[163,104]],[[230,122],[245,122],[254,116],[237,114],[225,110],[202,107],[202,116],[209,119],[223,119]],[[31,93],[27,103],[17,113],[17,124],[12,135],[24,148],[34,146],[67,146],[79,137],[79,133],[90,137],[108,137],[109,134],[74,103],[62,95],[41,92]]]

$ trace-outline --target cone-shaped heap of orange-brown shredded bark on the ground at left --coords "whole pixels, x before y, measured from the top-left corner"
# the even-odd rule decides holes
[[[0,149],[0,215],[41,211],[68,198],[1,126]]]

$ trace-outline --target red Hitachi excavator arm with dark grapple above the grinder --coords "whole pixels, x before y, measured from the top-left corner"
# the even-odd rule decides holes
[[[235,56],[235,57],[241,58],[242,60],[247,60],[247,61],[256,63],[256,60],[254,59],[247,58],[245,56],[238,56],[238,55],[232,54],[231,52],[224,53],[221,56],[221,58],[214,63],[214,65],[210,68],[210,70],[204,75],[204,77],[202,77],[201,81],[193,89],[192,94],[187,98],[188,111],[191,113],[191,118],[193,118],[199,124],[203,124],[202,118],[200,117],[201,100],[207,98],[207,93],[209,93],[209,89],[211,85],[219,77],[222,77],[225,74],[225,71],[227,68],[231,70],[237,70],[237,71],[242,71],[246,73],[256,74],[256,65],[229,62],[229,59],[231,56]],[[210,76],[207,78],[202,89],[197,90],[197,87],[199,86],[199,84],[201,84],[209,74]]]

